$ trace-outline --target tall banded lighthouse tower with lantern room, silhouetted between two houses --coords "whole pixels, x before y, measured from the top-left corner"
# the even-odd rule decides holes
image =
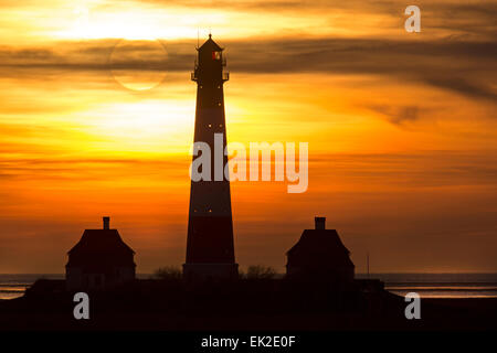
[[[194,142],[210,147],[211,178],[191,181],[183,277],[190,280],[233,279],[237,277],[237,264],[234,259],[230,181],[224,175],[228,157],[220,152],[226,147],[223,84],[229,79],[229,73],[223,72],[226,64],[223,49],[211,34],[197,50],[198,58],[191,74],[191,79],[197,82]]]

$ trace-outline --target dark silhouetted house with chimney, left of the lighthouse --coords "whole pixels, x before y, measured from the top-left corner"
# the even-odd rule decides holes
[[[104,217],[102,229],[86,229],[67,253],[67,290],[104,290],[135,279],[135,252]]]

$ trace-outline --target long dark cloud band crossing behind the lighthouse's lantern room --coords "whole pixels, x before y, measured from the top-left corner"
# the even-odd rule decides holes
[[[21,76],[59,72],[191,71],[194,43],[163,42],[167,56],[157,53],[157,43],[140,41],[120,47],[117,41],[64,42],[51,49],[0,49],[0,73]],[[497,42],[278,38],[231,40],[226,47],[232,73],[367,74],[392,79],[421,82],[470,98],[495,101],[491,84],[497,73]],[[144,58],[145,57],[145,58]]]

